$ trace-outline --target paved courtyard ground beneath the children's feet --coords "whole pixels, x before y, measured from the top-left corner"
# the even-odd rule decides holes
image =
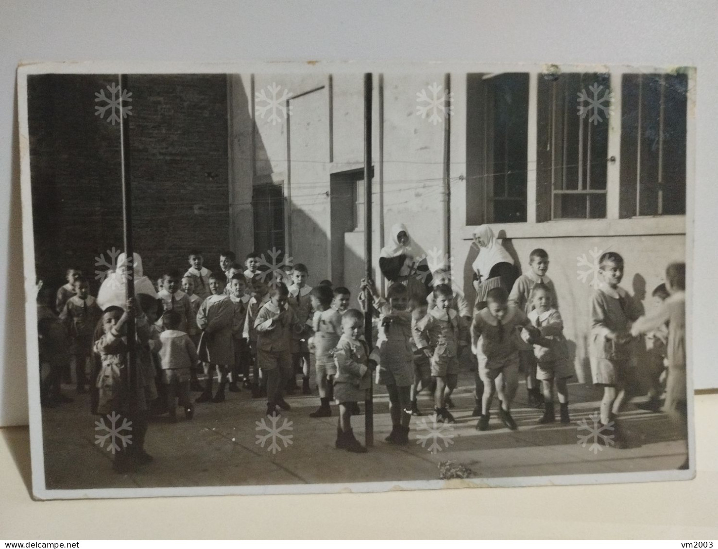
[[[269,423],[263,416],[264,401],[251,399],[248,390],[228,393],[224,403],[196,405],[192,421],[185,421],[181,413],[179,423],[169,423],[166,416],[154,418],[146,440],[146,450],[154,462],[134,474],[116,474],[111,470],[111,453],[95,444],[95,435],[101,431],[95,431],[99,418],[88,412],[89,395],[75,395],[66,386],[65,393],[75,402],[42,411],[47,488],[434,480],[439,479],[439,461],[447,460],[470,467],[482,478],[657,471],[676,469],[684,461],[684,442],[666,417],[633,405],[628,406],[623,420],[629,449],[603,447],[592,451],[590,441],[582,446],[578,437],[589,431],[579,422],[585,419],[593,425],[590,416],[597,410],[600,396],[590,385],[569,385],[571,424],[547,426],[536,424],[541,411],[526,405],[526,390],[521,385],[513,408],[518,431],[504,428],[495,414],[489,431],[476,431],[476,418],[471,417],[472,390],[473,375],[462,373],[453,399],[457,423],[440,431],[438,448],[432,449],[429,413],[433,406],[429,396],[422,394],[419,398],[419,407],[426,415],[412,419],[409,445],[392,446],[383,441],[391,431],[388,398],[383,388],[376,388],[375,444],[368,454],[334,448],[336,410],[332,418],[308,416],[319,404],[316,393],[287,398],[292,410],[281,416],[278,426],[285,420],[292,422],[291,430],[280,431],[291,438],[286,438],[286,446],[278,438],[279,450],[273,451],[271,436],[264,445],[258,439],[267,432],[258,429],[257,422],[264,418]],[[360,441],[364,440],[364,422],[363,415],[353,418]],[[418,438],[427,435],[425,441]]]

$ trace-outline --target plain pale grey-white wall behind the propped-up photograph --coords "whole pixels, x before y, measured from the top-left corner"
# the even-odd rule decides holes
[[[0,426],[27,423],[16,70],[32,61],[477,61],[694,66],[695,388],[717,388],[714,1],[9,0],[0,17]],[[440,69],[438,72],[442,72]],[[351,151],[349,151],[351,152]],[[669,243],[667,242],[668,246]]]

